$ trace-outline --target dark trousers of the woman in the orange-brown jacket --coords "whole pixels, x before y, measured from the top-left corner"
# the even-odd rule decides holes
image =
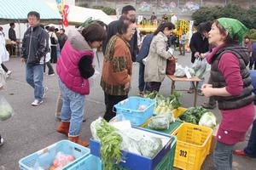
[[[105,96],[106,112],[103,118],[109,122],[116,115],[115,112],[113,112],[113,105],[118,104],[119,101],[127,99],[128,95],[110,95],[104,92],[104,96]]]

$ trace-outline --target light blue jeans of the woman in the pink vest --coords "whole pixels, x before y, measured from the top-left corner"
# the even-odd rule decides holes
[[[68,136],[79,136],[84,116],[85,95],[73,92],[61,80],[59,86],[63,99],[61,122],[70,122]]]

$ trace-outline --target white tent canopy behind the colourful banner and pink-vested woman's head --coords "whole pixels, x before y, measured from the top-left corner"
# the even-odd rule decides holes
[[[50,8],[54,9],[58,13],[58,8],[55,3],[47,3]],[[85,20],[90,17],[92,20],[102,20],[105,24],[109,24],[113,19],[105,14],[100,9],[94,8],[82,8],[74,5],[69,5],[69,14],[67,15],[67,20],[69,25],[78,25],[84,23]]]

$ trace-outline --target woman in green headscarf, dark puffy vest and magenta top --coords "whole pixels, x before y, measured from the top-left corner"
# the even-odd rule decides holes
[[[246,68],[249,54],[240,45],[246,31],[239,20],[220,18],[213,22],[209,32],[208,41],[216,47],[207,57],[212,84],[204,84],[202,93],[218,101],[222,115],[213,152],[218,170],[232,169],[233,146],[245,139],[253,122],[253,87]]]

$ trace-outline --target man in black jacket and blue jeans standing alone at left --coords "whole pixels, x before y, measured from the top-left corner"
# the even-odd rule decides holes
[[[39,25],[40,14],[32,11],[27,14],[30,27],[24,33],[21,62],[26,62],[26,82],[34,88],[33,106],[43,103],[48,88],[43,86],[44,56],[49,50],[48,34]]]

